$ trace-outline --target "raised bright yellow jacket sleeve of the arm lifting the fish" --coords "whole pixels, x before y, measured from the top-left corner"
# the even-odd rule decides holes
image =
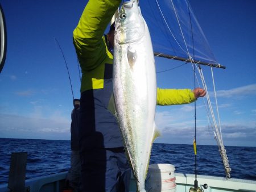
[[[73,43],[82,70],[97,67],[106,57],[102,36],[121,0],[90,0],[75,30]]]

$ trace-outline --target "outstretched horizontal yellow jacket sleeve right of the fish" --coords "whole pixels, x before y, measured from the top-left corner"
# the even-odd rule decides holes
[[[180,105],[196,100],[191,89],[160,89],[157,88],[156,105]]]

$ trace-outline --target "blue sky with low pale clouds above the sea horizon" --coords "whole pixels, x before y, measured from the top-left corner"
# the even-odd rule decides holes
[[[225,145],[256,147],[256,2],[254,0],[190,1],[210,48],[226,69],[214,69]],[[70,138],[72,93],[80,97],[80,78],[72,31],[83,1],[1,1],[7,23],[7,57],[0,74],[0,137]],[[182,63],[156,59],[156,71]],[[210,68],[203,67],[210,95]],[[162,88],[193,89],[190,64],[157,73]],[[201,86],[201,85],[200,85]],[[211,97],[213,104],[215,101]],[[215,145],[203,99],[197,106],[197,143]],[[213,105],[214,106],[214,105]],[[215,107],[214,107],[215,108]],[[191,144],[194,105],[158,106],[158,143]]]

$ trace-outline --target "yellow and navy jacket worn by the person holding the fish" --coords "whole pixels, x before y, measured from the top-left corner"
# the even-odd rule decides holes
[[[73,43],[82,70],[80,144],[104,148],[122,147],[114,116],[108,111],[112,94],[113,55],[104,31],[119,0],[89,1],[73,31]],[[177,105],[195,101],[190,89],[157,89],[157,105]]]

